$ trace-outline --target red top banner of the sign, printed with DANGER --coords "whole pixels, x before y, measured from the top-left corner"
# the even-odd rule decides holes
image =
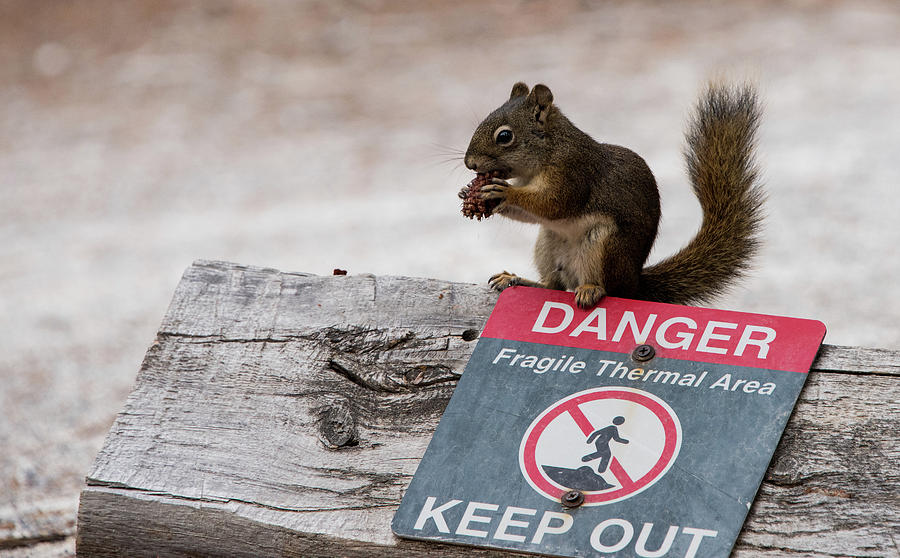
[[[482,333],[620,353],[649,344],[661,358],[802,373],[815,357],[808,348],[824,335],[816,320],[609,296],[582,310],[573,293],[531,287],[503,291]]]

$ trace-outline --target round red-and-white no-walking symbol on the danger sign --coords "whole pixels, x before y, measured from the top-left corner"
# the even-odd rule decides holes
[[[584,493],[584,505],[610,504],[658,481],[675,462],[681,439],[678,417],[659,397],[599,387],[539,414],[522,438],[519,466],[551,500],[574,489]]]

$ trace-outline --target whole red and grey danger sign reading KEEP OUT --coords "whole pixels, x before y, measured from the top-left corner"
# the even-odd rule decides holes
[[[548,556],[726,557],[821,322],[505,290],[393,521]]]

